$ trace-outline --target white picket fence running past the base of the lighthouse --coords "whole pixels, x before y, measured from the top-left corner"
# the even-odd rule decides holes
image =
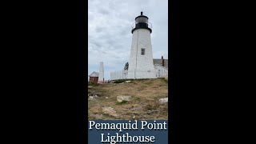
[[[128,77],[128,72],[134,73],[134,71],[128,70],[118,70],[110,73],[110,80],[126,79]],[[136,74],[145,75],[148,74],[147,71],[135,71]],[[168,72],[158,71],[154,72],[155,78],[168,77]]]

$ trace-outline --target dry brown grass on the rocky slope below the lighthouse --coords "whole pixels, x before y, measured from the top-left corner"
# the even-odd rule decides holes
[[[166,120],[167,105],[159,105],[159,98],[168,97],[168,83],[165,79],[135,80],[130,83],[107,83],[94,86],[90,91],[100,94],[96,100],[88,102],[88,118],[96,120],[95,114],[103,115],[104,120]],[[91,92],[90,92],[91,93]],[[130,95],[132,101],[118,103],[118,95]],[[108,98],[106,98],[108,97]],[[104,114],[102,107],[114,108],[119,117]]]

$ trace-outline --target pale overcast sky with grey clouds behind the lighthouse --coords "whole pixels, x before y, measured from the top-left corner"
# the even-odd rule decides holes
[[[89,0],[88,74],[104,63],[105,79],[129,62],[131,25],[143,11],[152,24],[153,58],[168,58],[168,0]]]

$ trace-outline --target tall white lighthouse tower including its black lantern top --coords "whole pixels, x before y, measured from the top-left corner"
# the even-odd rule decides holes
[[[150,34],[152,25],[143,12],[135,18],[131,33],[133,34],[128,78],[156,78]]]

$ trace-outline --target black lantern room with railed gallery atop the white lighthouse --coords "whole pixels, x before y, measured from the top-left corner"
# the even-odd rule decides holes
[[[135,18],[135,22],[132,25],[131,33],[134,32],[134,30],[137,29],[147,29],[150,30],[150,33],[152,33],[152,25],[150,22],[148,22],[148,19],[146,15],[143,15],[143,12],[141,12],[141,15]]]

